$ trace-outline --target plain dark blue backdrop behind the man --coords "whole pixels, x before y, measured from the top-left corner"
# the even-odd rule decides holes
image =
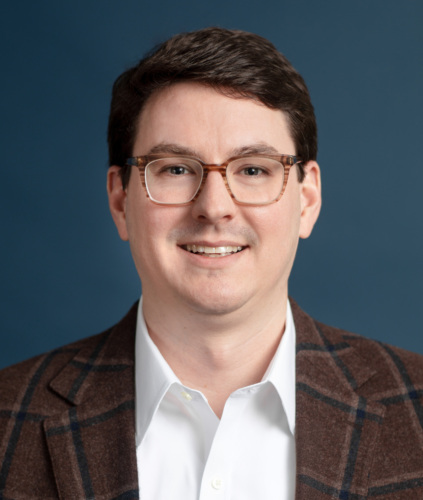
[[[169,36],[269,38],[303,74],[324,205],[290,293],[423,353],[420,0],[3,2],[0,366],[105,329],[140,293],[105,191],[116,76]]]

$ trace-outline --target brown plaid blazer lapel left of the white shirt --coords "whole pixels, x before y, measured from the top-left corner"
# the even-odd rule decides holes
[[[138,498],[134,342],[137,307],[92,337],[50,388],[73,406],[45,420],[59,497]]]

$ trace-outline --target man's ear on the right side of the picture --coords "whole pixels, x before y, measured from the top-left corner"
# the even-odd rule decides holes
[[[317,221],[322,206],[320,168],[311,160],[304,165],[305,178],[300,184],[301,221],[300,238],[308,238]]]

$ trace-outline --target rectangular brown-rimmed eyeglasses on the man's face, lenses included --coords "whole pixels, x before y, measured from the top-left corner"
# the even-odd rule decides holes
[[[135,156],[126,165],[138,167],[147,197],[159,205],[188,205],[201,193],[209,172],[219,172],[231,197],[241,205],[268,205],[281,199],[292,155],[244,155],[221,165],[207,165],[189,156]]]

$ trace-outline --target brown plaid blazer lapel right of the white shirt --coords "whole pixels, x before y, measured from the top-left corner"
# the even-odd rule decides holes
[[[365,499],[384,406],[363,397],[360,387],[375,372],[340,330],[291,305],[297,332],[296,499]]]

